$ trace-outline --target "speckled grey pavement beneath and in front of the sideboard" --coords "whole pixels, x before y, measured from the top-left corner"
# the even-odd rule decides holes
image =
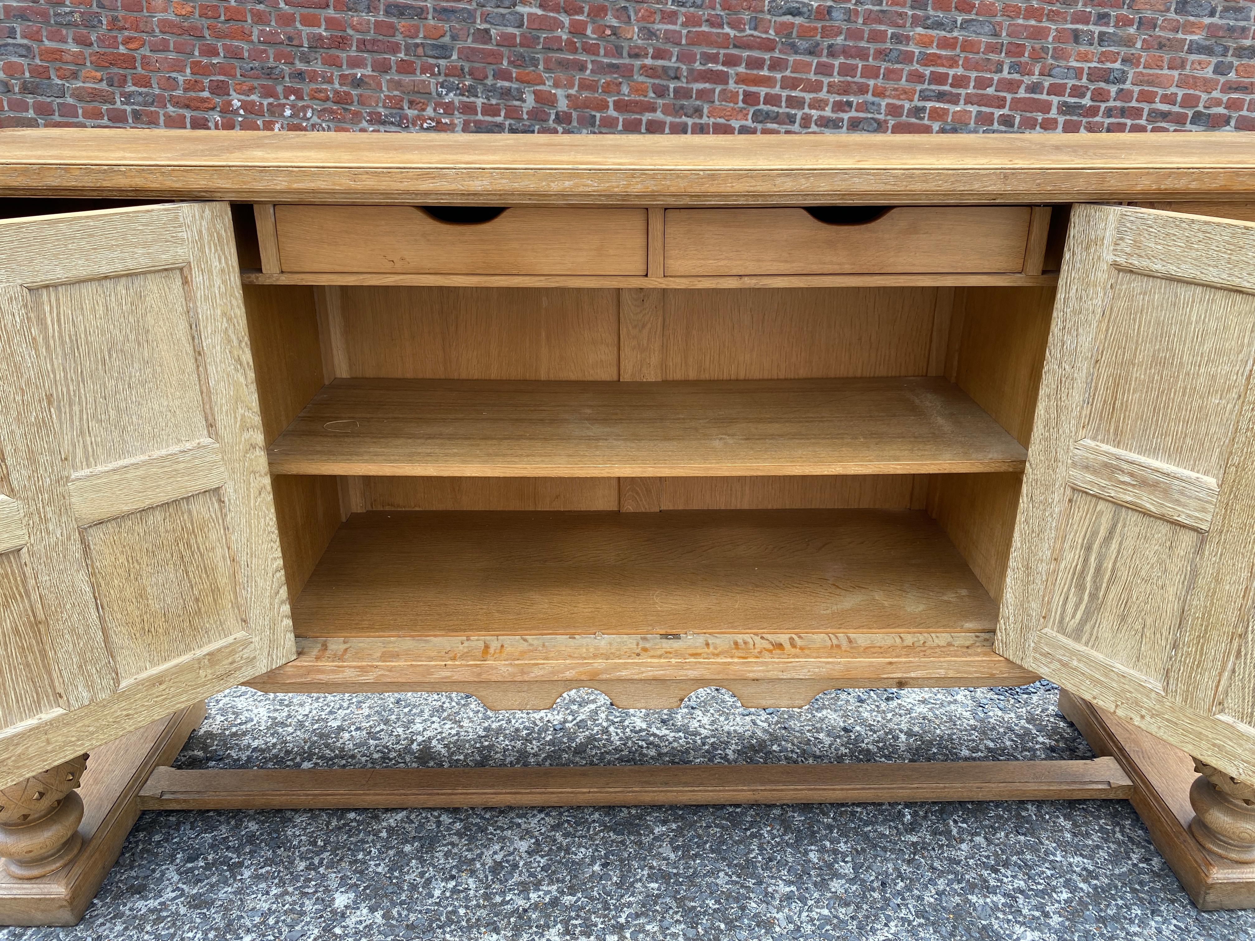
[[[187,768],[1092,757],[1040,683],[625,711],[231,690]],[[1255,938],[1197,912],[1122,800],[146,813],[75,928],[34,938]]]

